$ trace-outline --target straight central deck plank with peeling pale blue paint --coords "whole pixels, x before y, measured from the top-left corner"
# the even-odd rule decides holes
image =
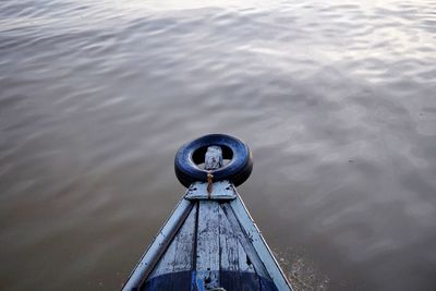
[[[219,287],[219,204],[198,202],[196,279],[204,289]]]

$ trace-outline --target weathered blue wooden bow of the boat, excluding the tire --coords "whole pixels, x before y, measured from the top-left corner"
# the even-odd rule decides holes
[[[206,183],[198,189],[205,192]],[[197,193],[187,199],[186,193],[124,291],[292,291],[233,185],[225,181],[214,189],[234,198]]]

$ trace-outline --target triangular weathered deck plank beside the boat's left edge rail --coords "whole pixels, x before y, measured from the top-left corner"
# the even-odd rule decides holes
[[[193,207],[148,279],[192,269],[196,213],[196,207]]]

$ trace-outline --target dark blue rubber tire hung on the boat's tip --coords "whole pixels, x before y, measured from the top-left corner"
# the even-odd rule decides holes
[[[193,182],[206,182],[207,172],[197,165],[204,162],[208,146],[222,149],[223,159],[230,159],[225,167],[213,171],[214,182],[229,180],[239,186],[249,179],[253,170],[252,153],[246,144],[226,134],[209,134],[183,145],[174,158],[175,175],[185,187]]]

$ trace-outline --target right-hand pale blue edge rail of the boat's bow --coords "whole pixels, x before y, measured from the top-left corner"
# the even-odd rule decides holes
[[[264,279],[270,279],[272,280],[274,284],[277,287],[278,290],[292,290],[291,284],[288,282],[284,274],[282,272],[279,264],[277,263],[276,258],[274,257],[271,251],[269,250],[267,243],[265,242],[264,238],[261,234],[261,231],[256,227],[253,218],[250,216],[249,210],[246,209],[243,201],[237,193],[237,198],[231,201],[227,205],[226,215],[229,216],[230,214],[234,214],[237,220],[240,222],[239,225],[243,229],[243,231],[246,233],[246,237],[250,238],[251,245],[254,247],[254,251],[256,254],[258,254],[258,257],[261,258],[262,264],[265,266],[265,269],[268,272],[267,277],[264,277]],[[232,209],[230,211],[229,209]],[[245,250],[247,252],[247,250]],[[249,253],[249,252],[247,252]],[[249,253],[250,255],[250,253]],[[254,263],[254,262],[253,262]],[[258,265],[258,262],[255,263],[255,268],[256,264]],[[256,271],[257,268],[256,268]],[[268,278],[269,277],[269,278]],[[263,282],[264,284],[265,282]]]

